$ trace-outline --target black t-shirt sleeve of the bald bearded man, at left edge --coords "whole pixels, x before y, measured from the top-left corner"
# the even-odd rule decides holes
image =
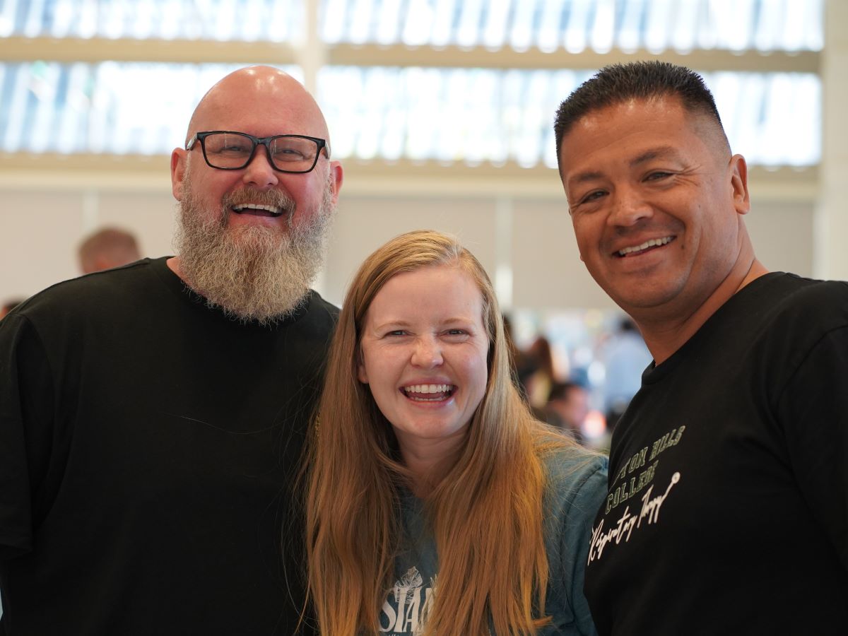
[[[0,321],[0,559],[32,548],[33,497],[50,456],[52,380],[24,316]]]

